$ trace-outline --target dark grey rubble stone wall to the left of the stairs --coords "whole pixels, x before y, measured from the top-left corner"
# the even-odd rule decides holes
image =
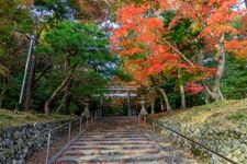
[[[0,129],[0,164],[25,163],[25,157],[46,145],[49,129],[64,122],[66,122],[66,120],[35,122],[33,125]],[[52,133],[52,141],[58,138],[58,133],[61,130],[63,129]]]

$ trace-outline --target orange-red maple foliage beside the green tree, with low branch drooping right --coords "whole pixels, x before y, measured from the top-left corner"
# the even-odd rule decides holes
[[[167,1],[159,2],[161,8],[168,8]],[[112,49],[122,57],[138,56],[126,61],[125,71],[139,84],[148,84],[150,74],[159,74],[162,71],[176,77],[178,69],[184,69],[195,75],[195,81],[213,77],[209,69],[181,62],[180,55],[170,46],[160,44],[162,35],[168,32],[165,31],[161,20],[146,15],[148,10],[147,5],[130,4],[117,11],[117,22],[121,26],[112,33]]]

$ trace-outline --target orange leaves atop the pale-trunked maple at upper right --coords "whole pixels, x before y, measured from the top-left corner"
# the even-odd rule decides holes
[[[173,0],[172,3],[178,8],[176,9],[177,19],[170,26],[175,25],[181,16],[190,17],[203,26],[200,37],[206,37],[207,42],[218,39],[225,33],[238,33],[229,24],[235,17],[243,15],[242,12],[233,10],[237,0]]]

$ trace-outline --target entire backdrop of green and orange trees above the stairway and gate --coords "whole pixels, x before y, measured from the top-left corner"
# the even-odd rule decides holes
[[[83,98],[99,102],[93,89],[116,83],[136,85],[160,110],[243,98],[245,3],[2,0],[0,106],[16,107],[31,35],[26,112],[74,113]]]

